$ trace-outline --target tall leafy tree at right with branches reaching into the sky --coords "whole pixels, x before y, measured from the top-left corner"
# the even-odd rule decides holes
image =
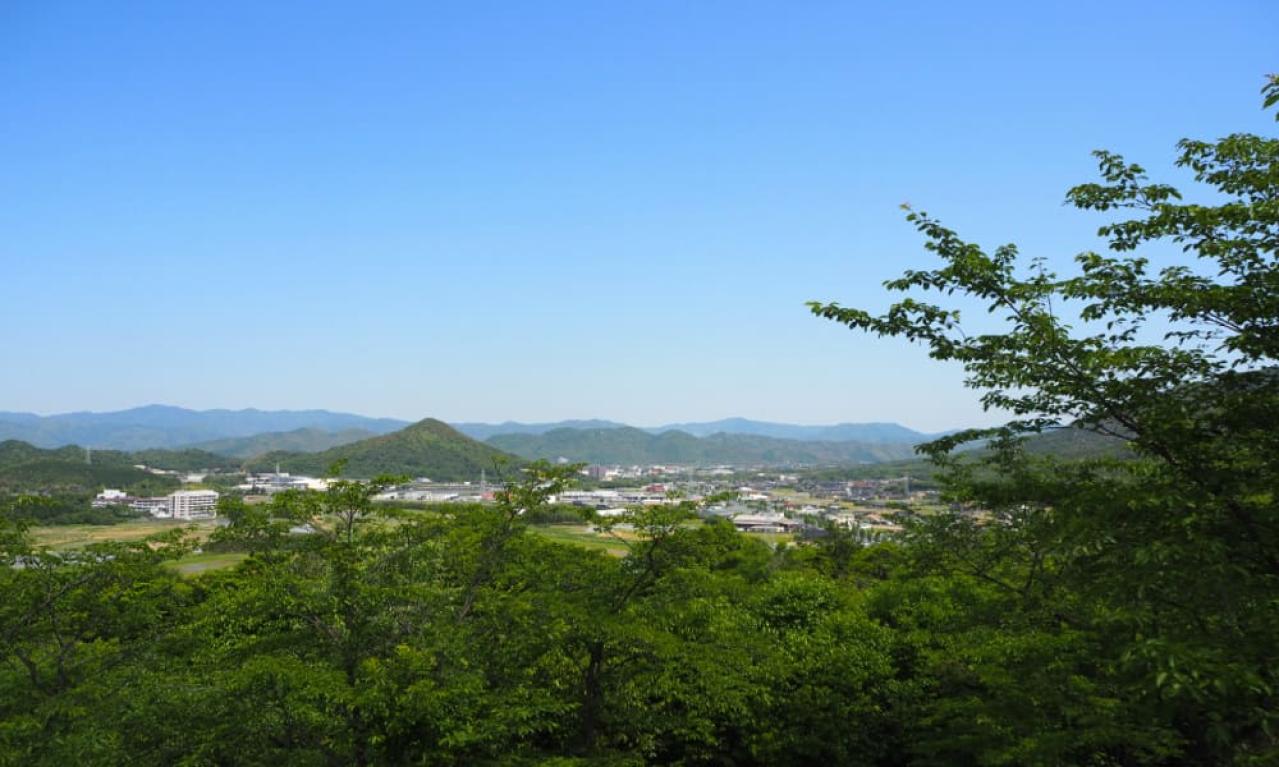
[[[1279,78],[1264,97],[1267,107],[1279,101]],[[909,295],[883,314],[811,304],[820,317],[922,343],[932,358],[961,363],[986,407],[1013,414],[1003,428],[929,447],[948,469],[952,497],[991,516],[917,531],[920,571],[999,596],[1013,628],[987,644],[1065,642],[1048,655],[1079,663],[1067,663],[1058,689],[1072,689],[1071,679],[1101,685],[1106,699],[1145,716],[1087,724],[1077,716],[1081,699],[1064,692],[1023,707],[1033,718],[1005,716],[1000,707],[1044,686],[1053,666],[1026,663],[1024,674],[998,680],[972,666],[967,683],[985,694],[948,717],[941,707],[962,701],[948,692],[921,715],[931,727],[926,740],[948,759],[962,752],[981,762],[1177,754],[1271,763],[1279,759],[1279,139],[1181,142],[1177,165],[1193,173],[1201,202],[1186,202],[1118,155],[1096,156],[1101,180],[1067,199],[1106,213],[1099,231],[1109,252],[1079,254],[1074,274],[1026,263],[1013,245],[986,252],[911,211],[939,268],[886,283]],[[1005,327],[967,334],[957,309],[918,291],[969,297]],[[1064,465],[1023,449],[1024,435],[1062,424],[1124,440],[1138,458]],[[980,460],[949,454],[980,437],[995,440]],[[1076,735],[1054,735],[1067,730]],[[939,745],[946,732],[952,743]]]

